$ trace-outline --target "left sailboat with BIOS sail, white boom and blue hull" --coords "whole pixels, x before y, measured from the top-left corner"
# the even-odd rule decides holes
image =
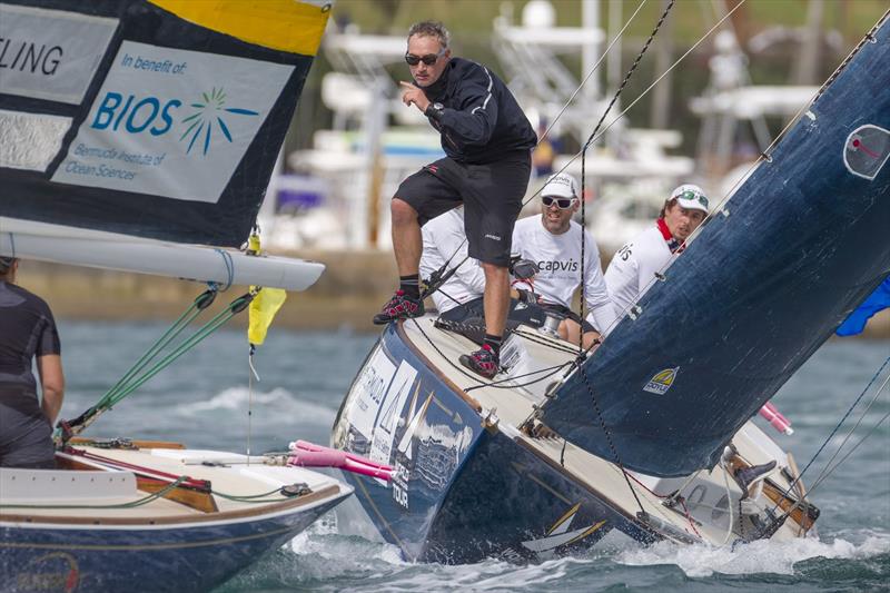
[[[320,264],[239,247],[329,9],[4,0],[0,255],[207,283],[201,306],[309,287]],[[57,436],[58,470],[0,468],[3,591],[209,590],[353,492],[288,454]]]

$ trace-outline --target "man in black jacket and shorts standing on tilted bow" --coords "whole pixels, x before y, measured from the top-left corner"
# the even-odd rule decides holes
[[[378,325],[424,314],[419,298],[421,227],[464,204],[469,257],[485,271],[485,342],[461,363],[492,378],[510,307],[513,225],[532,169],[535,132],[506,85],[486,67],[452,57],[439,22],[408,30],[414,82],[402,82],[402,101],[419,109],[442,135],[447,155],[405,179],[393,197],[393,247],[399,289],[374,317]],[[454,263],[457,265],[457,263]]]

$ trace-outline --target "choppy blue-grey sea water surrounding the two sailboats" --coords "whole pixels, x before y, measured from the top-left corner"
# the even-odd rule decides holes
[[[154,323],[61,323],[68,379],[62,415],[76,416],[96,403],[165,329]],[[253,389],[251,449],[281,451],[296,438],[327,443],[343,394],[373,342],[368,335],[273,330],[256,358],[263,380]],[[828,343],[774,399],[795,434],[767,431],[803,467],[888,356],[890,342]],[[89,434],[244,452],[248,373],[244,334],[220,330],[106,414]],[[888,412],[886,389],[859,432]],[[659,544],[525,566],[497,560],[444,566],[406,563],[394,546],[340,535],[328,518],[218,591],[888,591],[888,424],[814,492],[813,502],[822,510],[819,540],[755,542],[735,551]],[[844,434],[838,433],[828,455],[808,472],[808,484]]]

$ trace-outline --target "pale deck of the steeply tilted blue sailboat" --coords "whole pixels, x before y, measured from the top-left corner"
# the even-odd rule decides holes
[[[629,476],[625,477],[616,464],[592,455],[570,442],[565,442],[558,435],[550,433],[547,436],[534,437],[518,429],[533,415],[535,406],[546,399],[545,392],[550,384],[565,374],[567,366],[560,368],[555,374],[552,372],[561,365],[567,365],[574,360],[577,355],[576,345],[551,338],[534,328],[521,326],[520,330],[505,342],[502,350],[502,360],[508,356],[513,357],[513,368],[497,375],[495,382],[492,383],[474,375],[458,362],[462,354],[471,352],[477,346],[461,335],[435,327],[434,322],[435,316],[426,315],[404,323],[402,329],[408,340],[429,360],[431,367],[438,369],[456,387],[458,394],[467,398],[471,405],[475,403],[483,417],[490,413],[493,414],[498,421],[498,428],[521,446],[536,452],[554,466],[558,466],[562,459],[566,473],[573,475],[590,491],[615,504],[619,511],[630,517],[636,516],[642,506],[645,513],[662,520],[681,536],[702,538],[712,543],[723,543],[728,537],[732,537],[731,534],[728,536],[728,521],[720,525],[720,522],[710,518],[720,496],[729,492],[730,496],[726,496],[726,500],[738,501],[741,497],[741,490],[721,467],[715,467],[711,472],[699,472],[689,481],[688,478],[657,478],[633,472],[627,472]],[[508,342],[513,342],[513,344],[508,344]],[[506,353],[506,357],[503,353]],[[533,379],[541,380],[527,385]],[[545,431],[543,434],[547,434],[547,432]],[[772,458],[779,458],[780,462],[785,459],[784,452],[750,422],[736,435],[733,444],[751,465]],[[782,463],[780,463],[780,467]],[[639,504],[629,486],[629,481],[634,478],[639,481],[633,483]],[[789,485],[789,482],[780,473],[771,475],[771,480],[783,490]],[[683,493],[686,495],[690,486],[706,484],[715,496],[715,500],[711,501],[714,503],[711,506],[708,505],[708,501],[699,501],[699,513],[709,518],[696,521],[694,527],[682,507],[670,508],[663,504],[664,497],[683,487],[684,483]],[[720,507],[719,504],[716,507],[719,507],[716,508],[718,513],[726,514],[725,507]],[[738,504],[735,504],[735,508],[738,508]],[[696,516],[692,505],[690,505],[690,512],[692,516]],[[780,534],[797,535],[799,531],[797,524],[788,523],[780,530]]]

